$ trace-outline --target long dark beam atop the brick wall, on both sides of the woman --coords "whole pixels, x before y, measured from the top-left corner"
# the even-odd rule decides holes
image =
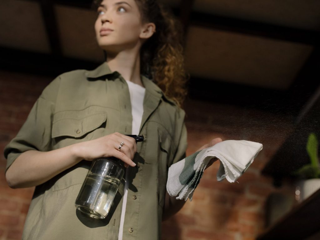
[[[56,77],[75,69],[94,69],[100,62],[77,60],[51,54],[27,52],[0,47],[0,69],[20,73]],[[288,93],[241,84],[191,77],[189,98],[259,108],[272,112],[282,111]],[[254,101],[252,101],[254,99]],[[299,107],[298,105],[296,106]],[[297,109],[299,112],[300,109]]]

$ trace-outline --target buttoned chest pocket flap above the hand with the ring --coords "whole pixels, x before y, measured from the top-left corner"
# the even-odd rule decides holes
[[[82,111],[66,111],[63,113],[63,118],[54,120],[52,123],[52,138],[60,136],[80,138],[98,128],[107,120],[105,112],[91,113],[86,116],[81,114]],[[79,118],[81,115],[82,118]]]

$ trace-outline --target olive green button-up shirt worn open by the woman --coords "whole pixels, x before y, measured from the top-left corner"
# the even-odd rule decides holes
[[[184,111],[150,81],[128,189],[123,239],[160,238],[168,168],[185,156]],[[42,92],[17,136],[6,146],[6,169],[28,150],[50,151],[113,132],[131,134],[129,89],[104,62],[92,71],[75,70],[54,79]],[[79,164],[36,186],[23,239],[118,239],[124,180],[104,220],[84,216],[75,200],[91,162]]]

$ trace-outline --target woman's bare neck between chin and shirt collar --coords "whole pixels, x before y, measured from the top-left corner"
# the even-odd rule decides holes
[[[107,62],[111,71],[117,71],[125,80],[143,86],[140,77],[140,49],[107,52]]]

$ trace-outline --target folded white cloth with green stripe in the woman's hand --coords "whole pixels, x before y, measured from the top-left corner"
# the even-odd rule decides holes
[[[172,164],[168,172],[167,191],[176,199],[189,198],[192,201],[193,191],[197,187],[204,169],[209,161],[217,157],[220,167],[217,180],[227,179],[235,182],[252,164],[262,149],[262,144],[246,140],[226,140],[194,153],[183,160]]]

